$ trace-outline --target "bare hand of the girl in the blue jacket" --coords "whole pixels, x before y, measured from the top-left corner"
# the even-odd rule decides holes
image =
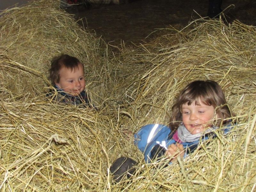
[[[184,148],[183,145],[180,143],[176,143],[175,144],[171,144],[168,146],[168,149],[165,151],[165,156],[169,156],[172,157],[172,159],[170,160],[171,162],[174,162],[177,160],[177,157],[180,156],[180,158],[182,159],[184,156],[185,152],[184,152]]]

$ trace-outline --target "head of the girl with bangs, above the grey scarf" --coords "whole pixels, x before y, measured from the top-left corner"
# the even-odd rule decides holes
[[[190,131],[191,127],[197,129],[197,126],[200,125],[201,129],[198,129],[197,132],[194,131],[194,133],[191,132],[195,134],[203,131],[201,125],[203,121],[218,119],[216,125],[219,126],[222,119],[232,115],[224,93],[217,82],[211,80],[193,81],[185,87],[172,106],[170,127],[174,131],[183,121],[185,127]],[[204,122],[204,129],[209,124],[212,122]]]

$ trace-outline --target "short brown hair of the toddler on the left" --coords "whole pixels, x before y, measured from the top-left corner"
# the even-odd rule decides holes
[[[71,71],[78,69],[78,65],[81,63],[76,57],[72,57],[68,54],[61,54],[52,58],[51,68],[49,69],[49,79],[52,84],[59,83],[60,81],[60,69],[65,67],[71,69]],[[81,63],[84,70],[84,65]]]

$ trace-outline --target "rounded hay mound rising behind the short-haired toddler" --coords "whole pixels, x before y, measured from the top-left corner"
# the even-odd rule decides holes
[[[107,89],[111,78],[105,42],[59,9],[59,1],[35,1],[0,16],[1,87],[13,94],[42,94],[50,85],[50,60],[67,53],[84,63],[89,89],[98,93]],[[102,96],[96,94],[97,99]]]

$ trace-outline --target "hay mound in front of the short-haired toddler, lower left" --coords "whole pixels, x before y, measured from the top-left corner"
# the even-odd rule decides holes
[[[121,148],[106,116],[72,105],[1,102],[0,119],[0,188],[6,190],[101,190],[108,155]]]

